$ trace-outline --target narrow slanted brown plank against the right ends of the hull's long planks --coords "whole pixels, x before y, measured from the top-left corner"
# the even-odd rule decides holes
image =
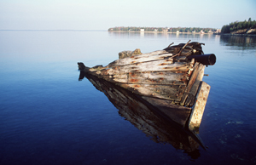
[[[180,101],[180,105],[184,105],[185,101],[187,100],[188,98],[188,95],[189,95],[189,91],[190,89],[192,88],[193,84],[195,83],[195,79],[198,75],[198,72],[201,71],[201,68],[203,67],[203,65],[199,64],[199,63],[195,63],[194,65],[194,71],[191,75],[191,77],[189,78],[189,83],[188,83],[188,86],[183,94],[183,98],[182,100]]]

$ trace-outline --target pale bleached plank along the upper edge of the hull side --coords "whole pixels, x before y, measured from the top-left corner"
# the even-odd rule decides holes
[[[155,55],[136,55],[131,56],[130,58],[125,58],[121,60],[114,60],[110,64],[108,64],[108,68],[113,66],[119,66],[119,65],[132,65],[142,62],[148,62],[148,61],[154,61],[154,60],[165,60],[168,57],[172,57],[172,54],[155,54]],[[169,61],[173,61],[172,59],[169,59]]]

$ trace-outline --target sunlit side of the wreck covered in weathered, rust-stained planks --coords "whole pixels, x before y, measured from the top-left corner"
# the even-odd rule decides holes
[[[135,94],[173,100],[178,103],[189,79],[188,62],[173,62],[165,50],[115,60],[103,67],[88,68],[90,74],[119,84]]]

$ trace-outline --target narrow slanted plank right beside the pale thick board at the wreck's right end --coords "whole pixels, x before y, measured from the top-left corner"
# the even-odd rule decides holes
[[[197,77],[195,79],[195,83],[193,84],[192,88],[189,91],[188,98],[185,102],[185,105],[187,105],[189,107],[193,106],[194,103],[195,103],[195,96],[196,96],[197,90],[199,88],[199,85],[202,81],[202,78],[204,77],[204,71],[205,71],[205,66],[203,65],[201,67],[201,70],[197,74]]]

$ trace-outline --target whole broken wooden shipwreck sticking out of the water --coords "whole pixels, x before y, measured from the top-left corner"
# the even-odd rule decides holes
[[[190,42],[190,40],[189,40]],[[210,86],[202,82],[205,65],[214,65],[214,54],[204,54],[204,43],[170,44],[148,54],[128,54],[107,66],[79,70],[137,94],[165,117],[195,130],[207,103]]]

